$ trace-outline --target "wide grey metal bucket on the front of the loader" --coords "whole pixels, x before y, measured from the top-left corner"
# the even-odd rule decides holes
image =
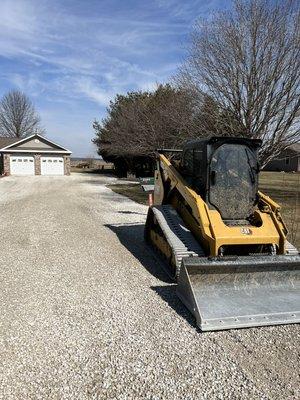
[[[300,256],[182,260],[177,295],[202,331],[300,322]]]

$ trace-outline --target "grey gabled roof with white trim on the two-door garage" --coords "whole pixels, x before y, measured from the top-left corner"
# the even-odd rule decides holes
[[[32,141],[32,139],[34,139],[34,138],[39,139],[40,142],[47,143],[48,145],[52,146],[53,149],[50,149],[50,150],[33,149],[33,148],[25,149],[24,144]],[[1,139],[3,141],[1,141]],[[20,146],[20,148],[18,148],[19,145],[22,145],[22,146]],[[24,150],[21,147],[23,147]],[[22,151],[23,152],[43,152],[43,153],[57,152],[57,153],[65,153],[65,154],[72,153],[70,150],[66,149],[65,147],[62,147],[61,145],[53,142],[52,140],[45,138],[44,136],[37,134],[37,133],[27,136],[22,139],[20,139],[20,138],[0,138],[0,152],[22,152]]]

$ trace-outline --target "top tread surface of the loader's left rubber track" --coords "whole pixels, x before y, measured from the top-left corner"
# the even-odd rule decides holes
[[[153,206],[152,210],[173,251],[177,271],[183,257],[205,256],[201,245],[171,205]]]

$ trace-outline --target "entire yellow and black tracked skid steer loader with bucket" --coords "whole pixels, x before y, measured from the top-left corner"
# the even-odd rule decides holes
[[[300,256],[258,191],[260,144],[211,137],[159,151],[145,239],[202,331],[300,321]]]

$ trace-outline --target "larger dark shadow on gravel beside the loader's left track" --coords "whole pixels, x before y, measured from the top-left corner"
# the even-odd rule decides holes
[[[150,272],[155,278],[172,283],[162,263],[155,253],[147,246],[144,241],[144,224],[106,224],[105,227],[113,231],[123,246]],[[174,293],[174,296],[176,294]]]

